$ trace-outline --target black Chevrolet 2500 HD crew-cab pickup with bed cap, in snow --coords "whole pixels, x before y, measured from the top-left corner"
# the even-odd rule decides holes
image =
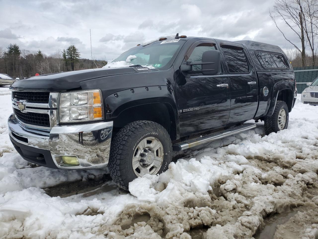
[[[286,129],[295,97],[280,47],[176,35],[138,45],[109,64],[35,76],[10,87],[10,140],[27,161],[96,169],[128,189],[167,169],[180,151],[256,127]]]

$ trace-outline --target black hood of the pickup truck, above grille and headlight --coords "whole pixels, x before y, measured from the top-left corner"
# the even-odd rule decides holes
[[[98,68],[87,70],[67,71],[53,73],[41,76],[32,76],[30,78],[14,82],[10,89],[12,90],[38,90],[59,92],[67,90],[80,90],[80,82],[106,76],[140,74],[142,72],[157,70],[148,69],[139,71],[138,69],[146,67],[120,67],[120,68]]]

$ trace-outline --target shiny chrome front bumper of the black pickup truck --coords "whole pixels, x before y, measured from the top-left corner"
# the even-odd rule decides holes
[[[108,164],[113,121],[72,126],[58,125],[52,127],[50,132],[45,132],[23,127],[14,114],[11,114],[8,128],[10,137],[17,143],[27,146],[27,151],[32,151],[32,148],[34,151],[50,151],[56,168],[98,169]],[[77,156],[79,165],[66,165],[61,160],[61,156]]]

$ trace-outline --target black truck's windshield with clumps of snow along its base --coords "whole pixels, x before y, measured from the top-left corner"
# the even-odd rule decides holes
[[[121,54],[105,67],[141,65],[149,68],[168,69],[184,42],[184,40],[173,39],[134,47]]]

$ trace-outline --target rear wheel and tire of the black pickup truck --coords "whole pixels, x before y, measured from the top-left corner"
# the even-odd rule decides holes
[[[287,129],[289,120],[288,107],[284,101],[277,101],[271,117],[265,119],[264,126],[266,134],[277,133]]]

